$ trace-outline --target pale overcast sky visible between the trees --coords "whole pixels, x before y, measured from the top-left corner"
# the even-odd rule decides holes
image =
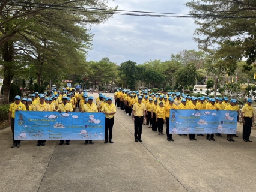
[[[187,1],[115,0],[109,5],[118,5],[118,10],[189,13],[184,5]],[[92,26],[94,48],[88,52],[88,61],[99,61],[103,57],[118,65],[128,60],[137,64],[150,59],[166,61],[171,53],[198,50],[192,39],[196,27],[192,19],[114,15],[107,22]]]

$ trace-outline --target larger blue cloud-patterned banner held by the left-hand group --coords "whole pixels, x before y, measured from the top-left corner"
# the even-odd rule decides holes
[[[16,140],[104,140],[103,113],[15,113]]]

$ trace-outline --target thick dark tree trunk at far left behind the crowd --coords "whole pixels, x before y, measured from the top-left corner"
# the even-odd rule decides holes
[[[3,89],[3,104],[9,104],[9,95],[11,89],[11,81],[14,73],[11,62],[13,61],[13,42],[7,41],[2,46],[2,58],[4,59],[4,82]]]

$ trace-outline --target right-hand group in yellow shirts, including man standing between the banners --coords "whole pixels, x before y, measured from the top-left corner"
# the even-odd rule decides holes
[[[251,142],[249,136],[251,134],[252,122],[254,121],[252,100],[248,98],[245,106],[243,106],[241,114],[237,100],[228,100],[224,98],[209,97],[190,97],[180,92],[166,92],[158,90],[155,94],[151,91],[126,91],[119,89],[115,92],[115,104],[117,108],[123,110],[126,115],[132,116],[135,124],[135,142],[142,142],[142,124],[148,125],[152,131],[158,131],[159,135],[163,135],[163,127],[166,125],[166,136],[168,141],[174,141],[172,134],[169,134],[169,116],[171,109],[195,109],[195,110],[233,110],[237,112],[237,121],[241,115],[243,122],[243,140]],[[187,134],[178,134],[179,136],[187,136]],[[197,136],[204,136],[197,134]],[[222,134],[216,133],[216,136],[222,137]],[[234,142],[233,137],[236,134],[227,134],[227,140]],[[206,139],[215,141],[214,134],[206,134]],[[195,139],[195,134],[189,134],[189,140]]]

